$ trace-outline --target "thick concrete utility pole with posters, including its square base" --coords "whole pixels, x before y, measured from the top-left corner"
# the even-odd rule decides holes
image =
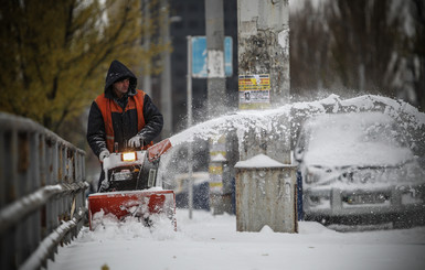
[[[289,1],[238,0],[237,19],[240,109],[289,102]],[[297,233],[290,121],[276,117],[270,126],[246,132],[241,142],[235,165],[238,231],[268,225],[274,231]],[[253,168],[258,159],[268,160],[267,165]]]

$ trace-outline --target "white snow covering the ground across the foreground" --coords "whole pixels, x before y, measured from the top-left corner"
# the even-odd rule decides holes
[[[47,269],[425,269],[425,227],[338,233],[300,222],[299,234],[236,231],[232,215],[177,210],[178,229],[136,222],[84,228]],[[103,268],[104,267],[104,268]]]

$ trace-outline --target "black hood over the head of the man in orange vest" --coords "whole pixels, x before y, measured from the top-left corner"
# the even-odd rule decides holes
[[[105,78],[105,95],[108,98],[113,97],[111,86],[115,82],[118,82],[119,79],[123,79],[125,77],[130,78],[130,85],[128,87],[128,95],[134,96],[136,95],[136,86],[137,86],[137,78],[135,74],[130,69],[128,69],[127,66],[125,66],[121,62],[114,60],[113,63],[110,63],[108,73]]]

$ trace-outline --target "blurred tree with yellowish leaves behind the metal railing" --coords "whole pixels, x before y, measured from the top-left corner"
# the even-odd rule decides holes
[[[103,93],[113,60],[136,66],[168,48],[144,51],[141,14],[139,0],[0,0],[1,110],[60,131]]]

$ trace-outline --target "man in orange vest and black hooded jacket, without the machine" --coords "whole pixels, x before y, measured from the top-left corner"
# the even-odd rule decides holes
[[[105,79],[105,93],[93,101],[87,125],[88,144],[102,163],[113,151],[140,150],[141,143],[148,149],[162,130],[161,112],[136,85],[132,72],[119,61],[113,61]],[[102,170],[97,190],[104,179]]]

